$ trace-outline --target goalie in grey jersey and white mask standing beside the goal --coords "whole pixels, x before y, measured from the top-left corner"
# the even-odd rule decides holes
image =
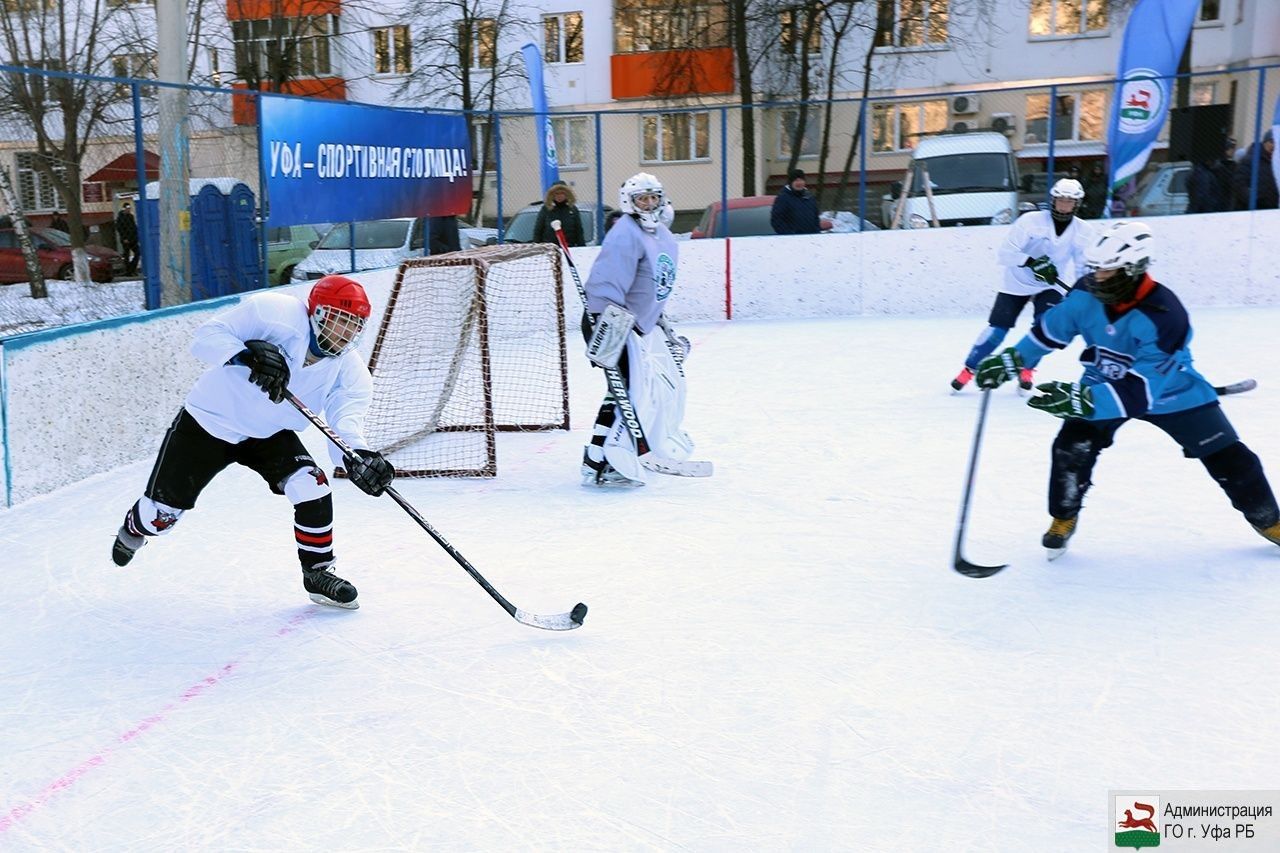
[[[663,319],[678,250],[663,223],[662,183],[645,172],[627,178],[618,191],[618,209],[622,216],[604,236],[585,284],[588,357],[598,366],[617,368],[652,451],[685,460],[692,442],[680,429],[685,382],[675,353],[682,360],[687,341]],[[650,334],[654,329],[660,332]],[[635,441],[621,415],[618,401],[605,393],[582,453],[584,484],[644,484]]]

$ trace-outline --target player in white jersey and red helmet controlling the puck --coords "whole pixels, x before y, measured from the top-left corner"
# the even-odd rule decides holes
[[[146,491],[124,516],[111,548],[127,565],[151,537],[173,529],[214,476],[232,462],[250,467],[293,505],[293,534],[302,585],[311,599],[355,610],[356,588],[334,573],[329,478],[298,433],[308,421],[284,402],[292,392],[356,450],[343,459],[351,482],[381,494],[396,475],[367,450],[364,423],[372,380],[356,339],[370,305],[357,282],[326,275],[306,302],[287,293],[246,297],[196,329],[191,352],[209,365],[160,444]]]

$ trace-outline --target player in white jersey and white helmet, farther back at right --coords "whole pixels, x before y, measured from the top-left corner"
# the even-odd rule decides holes
[[[1084,187],[1079,181],[1062,178],[1050,190],[1050,210],[1024,213],[1001,243],[997,260],[1005,268],[1005,279],[991,306],[987,328],[974,341],[964,368],[951,380],[954,391],[969,384],[978,362],[996,351],[1028,301],[1034,306],[1033,319],[1038,320],[1062,301],[1062,292],[1055,282],[1060,277],[1074,282],[1084,274],[1084,248],[1096,240],[1093,225],[1075,215],[1084,200]],[[1034,370],[1027,368],[1018,378],[1023,391],[1030,391],[1033,374]]]

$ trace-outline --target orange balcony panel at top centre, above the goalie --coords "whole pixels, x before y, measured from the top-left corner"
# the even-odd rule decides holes
[[[732,47],[613,54],[609,65],[616,100],[733,92]]]

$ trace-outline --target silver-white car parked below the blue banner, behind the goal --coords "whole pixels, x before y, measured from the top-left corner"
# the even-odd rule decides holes
[[[352,225],[355,225],[355,268],[352,268]],[[426,254],[425,227],[425,216],[340,222],[320,238],[310,255],[294,265],[291,280],[308,282],[330,273],[360,273],[366,269],[397,266],[406,257],[421,257]]]

